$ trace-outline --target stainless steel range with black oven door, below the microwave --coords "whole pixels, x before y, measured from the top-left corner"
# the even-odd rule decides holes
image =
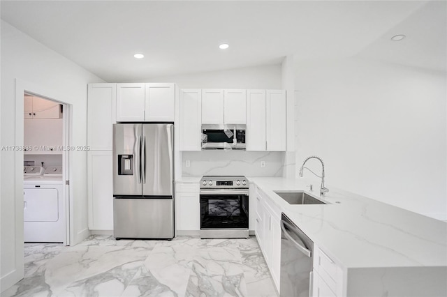
[[[245,176],[200,180],[200,238],[249,237],[249,181]]]

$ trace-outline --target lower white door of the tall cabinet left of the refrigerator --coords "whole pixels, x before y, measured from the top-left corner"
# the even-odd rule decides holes
[[[112,152],[89,151],[89,229],[113,230]]]

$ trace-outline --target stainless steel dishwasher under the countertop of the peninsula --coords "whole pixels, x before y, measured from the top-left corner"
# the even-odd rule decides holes
[[[284,213],[281,215],[281,297],[312,296],[314,243]]]

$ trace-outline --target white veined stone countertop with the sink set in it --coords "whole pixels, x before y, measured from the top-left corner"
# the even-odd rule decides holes
[[[247,178],[344,268],[447,266],[446,222],[335,188],[329,204],[291,205],[273,191],[319,197],[319,184],[309,192],[306,178]]]

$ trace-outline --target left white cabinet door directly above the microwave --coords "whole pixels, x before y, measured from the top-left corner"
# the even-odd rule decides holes
[[[202,123],[223,124],[223,90],[202,90]]]

